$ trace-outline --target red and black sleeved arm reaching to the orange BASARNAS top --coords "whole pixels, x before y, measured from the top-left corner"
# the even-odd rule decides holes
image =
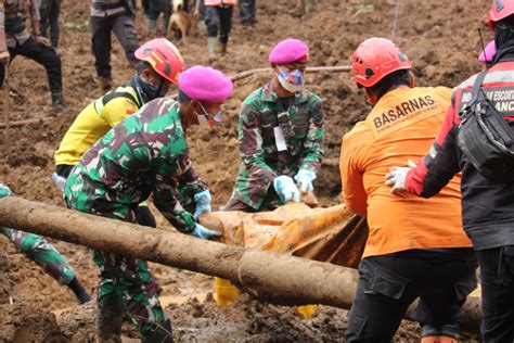
[[[431,198],[460,172],[457,145],[458,111],[453,101],[432,148],[406,177],[406,190],[419,196]]]

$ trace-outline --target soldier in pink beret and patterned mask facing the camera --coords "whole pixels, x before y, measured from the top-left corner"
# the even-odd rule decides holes
[[[269,55],[273,79],[243,102],[239,140],[242,165],[224,211],[260,212],[312,190],[323,155],[323,112],[318,96],[303,88],[308,48],[297,39]],[[273,186],[273,187],[271,187]]]

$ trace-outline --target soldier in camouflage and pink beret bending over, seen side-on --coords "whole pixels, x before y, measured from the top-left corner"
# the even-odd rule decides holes
[[[69,207],[136,223],[136,207],[153,193],[157,209],[181,232],[208,239],[204,228],[178,201],[188,198],[196,216],[210,211],[210,193],[188,156],[185,129],[202,119],[219,119],[232,82],[221,72],[195,66],[179,79],[179,101],[160,98],[121,122],[100,139],[72,170],[65,189]],[[204,120],[202,120],[204,122]],[[201,212],[198,212],[201,209]],[[143,342],[171,339],[146,262],[94,251],[100,268],[99,339],[119,340],[124,307]],[[166,341],[168,342],[168,341]]]

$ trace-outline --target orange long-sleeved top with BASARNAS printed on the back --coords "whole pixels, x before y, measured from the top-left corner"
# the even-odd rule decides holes
[[[429,150],[450,105],[451,90],[398,88],[345,135],[339,169],[343,196],[370,227],[363,257],[412,249],[467,247],[462,229],[460,175],[432,199],[393,194],[384,183],[394,166]]]

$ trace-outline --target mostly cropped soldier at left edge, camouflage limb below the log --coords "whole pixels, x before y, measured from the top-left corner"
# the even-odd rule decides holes
[[[0,182],[0,199],[12,195],[13,193],[9,187]],[[66,284],[74,292],[79,303],[83,304],[91,300],[66,258],[44,238],[2,226],[0,226],[0,233],[5,236],[28,258],[40,265],[52,278]]]

